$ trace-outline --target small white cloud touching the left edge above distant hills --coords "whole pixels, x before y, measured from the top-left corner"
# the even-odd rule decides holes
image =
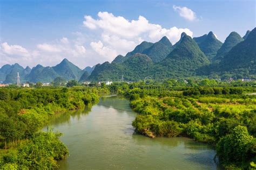
[[[7,42],[1,44],[3,53],[17,56],[30,56],[28,50],[19,45],[9,45]]]

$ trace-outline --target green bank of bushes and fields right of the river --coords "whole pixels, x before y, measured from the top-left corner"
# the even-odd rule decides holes
[[[128,94],[132,109],[139,113],[132,125],[147,137],[186,136],[212,144],[227,169],[252,168],[256,97],[242,91],[199,87],[157,93],[135,87]]]

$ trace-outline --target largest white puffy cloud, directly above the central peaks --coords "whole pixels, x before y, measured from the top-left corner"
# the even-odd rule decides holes
[[[143,16],[139,16],[137,20],[128,20],[122,16],[114,16],[109,12],[98,12],[98,19],[91,16],[85,16],[84,19],[85,27],[91,31],[102,33],[98,42],[93,41],[91,43],[92,49],[95,51],[97,49],[96,52],[100,55],[105,55],[104,52],[99,51],[103,49],[105,51],[106,48],[108,51],[112,51],[112,54],[125,55],[144,39],[156,42],[166,36],[172,44],[175,44],[182,32],[186,32],[188,36],[193,36],[193,32],[189,29],[181,29],[176,26],[166,29],[161,25],[150,23]],[[116,55],[108,54],[108,56],[109,60],[113,60]]]

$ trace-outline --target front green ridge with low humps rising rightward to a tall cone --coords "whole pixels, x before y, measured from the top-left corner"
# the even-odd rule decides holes
[[[134,81],[142,80],[147,76],[154,77],[154,79],[191,76],[196,73],[197,68],[209,63],[210,61],[197,43],[183,34],[177,47],[158,63],[154,63],[146,54],[136,53],[123,63],[106,62],[103,65],[97,65],[88,79],[120,80],[124,75],[125,80]]]

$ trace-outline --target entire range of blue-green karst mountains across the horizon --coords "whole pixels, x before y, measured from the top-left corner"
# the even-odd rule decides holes
[[[52,82],[56,77],[82,81],[137,81],[152,79],[201,77],[252,77],[256,78],[256,29],[245,36],[231,32],[225,42],[220,42],[213,32],[191,38],[185,33],[172,45],[167,37],[158,42],[136,46],[125,56],[118,55],[111,63],[80,69],[67,59],[54,67],[37,65],[32,69],[15,63],[0,69],[0,82],[15,83],[17,72],[21,82]]]

